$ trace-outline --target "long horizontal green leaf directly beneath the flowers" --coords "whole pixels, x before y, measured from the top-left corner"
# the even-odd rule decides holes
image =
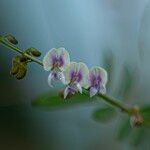
[[[75,104],[81,104],[86,102],[92,102],[88,95],[82,95],[77,93],[73,95],[71,98],[63,99],[55,91],[50,91],[36,98],[32,102],[32,105],[45,106],[48,108],[58,108],[58,107],[72,106]]]

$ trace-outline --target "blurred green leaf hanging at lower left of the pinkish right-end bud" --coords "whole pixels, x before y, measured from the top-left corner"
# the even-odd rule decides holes
[[[129,137],[131,130],[132,130],[132,128],[130,125],[130,120],[127,119],[127,120],[123,121],[119,128],[117,139],[125,140],[126,138]]]

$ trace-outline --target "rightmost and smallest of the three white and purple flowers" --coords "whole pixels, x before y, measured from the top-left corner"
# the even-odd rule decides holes
[[[106,93],[107,72],[101,67],[92,67],[89,71],[90,97],[97,93]]]

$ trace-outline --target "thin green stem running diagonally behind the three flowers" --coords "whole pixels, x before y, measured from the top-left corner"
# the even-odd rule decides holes
[[[4,46],[7,46],[8,48],[10,48],[13,51],[16,51],[22,55],[25,55],[31,61],[43,66],[42,61],[40,61],[39,59],[36,59],[35,57],[25,53],[22,49],[18,48],[17,46],[13,45],[12,43],[8,42],[4,37],[0,37],[0,43],[2,43]],[[86,90],[85,92],[87,93],[88,91]],[[121,101],[119,101],[113,97],[109,97],[109,96],[101,94],[101,93],[98,94],[98,97],[102,98],[104,101],[113,105],[114,107],[121,109],[123,112],[125,112],[127,114],[131,113],[130,108],[126,107],[123,103],[121,103]]]

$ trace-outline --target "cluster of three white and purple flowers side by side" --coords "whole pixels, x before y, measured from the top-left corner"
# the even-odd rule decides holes
[[[60,80],[66,85],[64,99],[69,94],[80,92],[82,88],[88,89],[90,97],[97,93],[106,93],[107,72],[95,66],[90,70],[82,62],[70,62],[69,53],[65,48],[52,48],[43,59],[43,66],[50,71],[48,84],[53,87],[53,80]]]

